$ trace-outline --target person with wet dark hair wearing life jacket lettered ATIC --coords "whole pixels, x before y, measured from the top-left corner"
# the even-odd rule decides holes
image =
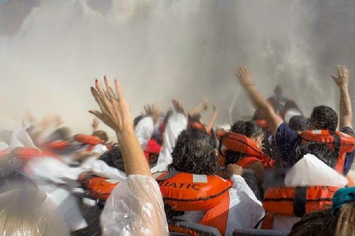
[[[172,157],[169,171],[157,177],[168,220],[177,217],[232,235],[236,228],[253,228],[263,217],[264,209],[241,176],[240,166],[228,166],[228,180],[215,176],[218,161],[206,131],[182,131]]]

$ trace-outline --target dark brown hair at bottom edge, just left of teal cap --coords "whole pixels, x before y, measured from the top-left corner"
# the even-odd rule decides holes
[[[318,236],[332,219],[330,207],[314,211],[295,223],[288,236]]]

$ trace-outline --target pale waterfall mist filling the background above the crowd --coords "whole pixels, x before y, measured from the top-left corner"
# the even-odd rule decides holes
[[[315,105],[338,109],[337,64],[354,76],[355,1],[0,2],[0,129],[31,111],[91,132],[90,86],[104,75],[120,81],[133,116],[146,103],[165,111],[176,98],[188,110],[207,97],[218,123],[228,123],[239,64],[265,96],[279,82],[307,116]],[[241,92],[234,120],[252,112]]]

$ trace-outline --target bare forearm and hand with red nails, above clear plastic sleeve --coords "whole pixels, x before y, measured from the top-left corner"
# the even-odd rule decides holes
[[[102,88],[99,81],[96,80],[96,89],[91,87],[91,92],[98,103],[101,112],[96,110],[91,110],[89,112],[101,119],[116,132],[117,141],[122,151],[126,174],[128,176],[142,175],[151,177],[142,147],[133,130],[133,120],[131,118],[129,107],[117,80],[115,80],[114,83],[115,93],[106,77],[106,91]]]

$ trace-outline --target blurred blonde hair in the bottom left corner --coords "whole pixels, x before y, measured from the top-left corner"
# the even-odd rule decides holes
[[[35,187],[0,194],[1,236],[69,236],[69,230],[46,195]]]

